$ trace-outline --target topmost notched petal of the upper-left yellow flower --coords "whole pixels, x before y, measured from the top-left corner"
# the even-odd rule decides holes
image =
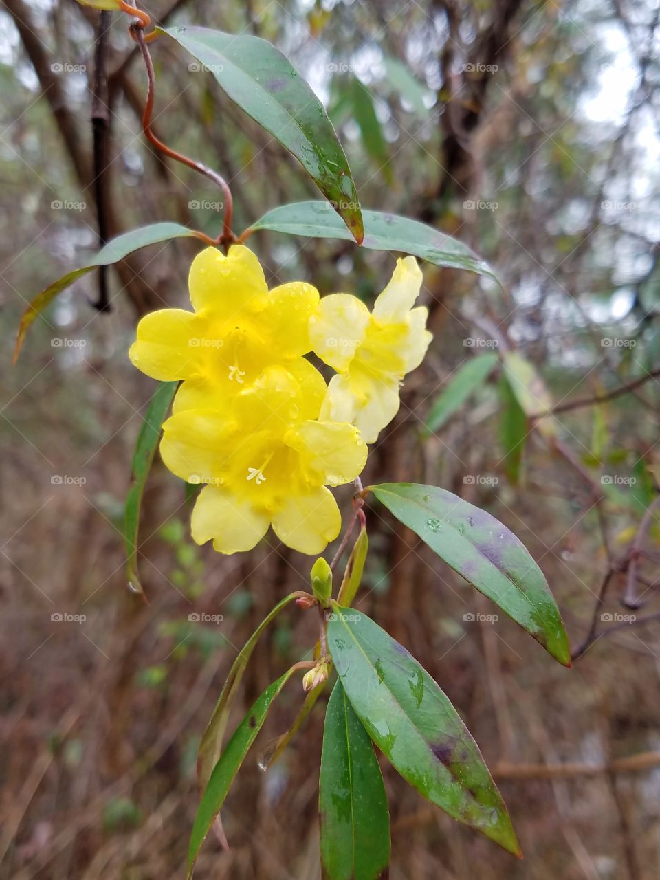
[[[225,319],[241,309],[266,307],[268,287],[259,260],[244,245],[232,245],[227,256],[216,247],[198,253],[188,276],[195,312],[209,310]]]

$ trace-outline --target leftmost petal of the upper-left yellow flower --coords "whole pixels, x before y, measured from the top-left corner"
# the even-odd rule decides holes
[[[138,370],[163,382],[192,377],[200,369],[200,331],[200,319],[194,312],[150,312],[137,325],[137,340],[128,357]]]

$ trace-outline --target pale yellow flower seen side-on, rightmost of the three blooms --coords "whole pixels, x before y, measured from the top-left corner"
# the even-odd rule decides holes
[[[428,310],[413,308],[422,286],[414,257],[397,260],[373,312],[356,297],[324,297],[310,319],[315,353],[338,375],[330,380],[320,418],[356,425],[366,443],[392,422],[406,373],[422,363],[431,334]]]

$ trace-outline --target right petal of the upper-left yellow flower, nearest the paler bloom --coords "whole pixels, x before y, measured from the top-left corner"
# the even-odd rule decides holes
[[[306,355],[312,350],[309,323],[319,304],[319,291],[312,284],[290,282],[268,294],[262,318],[281,357]]]

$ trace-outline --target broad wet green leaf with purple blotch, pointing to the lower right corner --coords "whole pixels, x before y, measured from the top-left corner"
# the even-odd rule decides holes
[[[450,700],[366,614],[336,603],[333,608],[328,649],[374,743],[422,796],[519,855],[502,797]]]

